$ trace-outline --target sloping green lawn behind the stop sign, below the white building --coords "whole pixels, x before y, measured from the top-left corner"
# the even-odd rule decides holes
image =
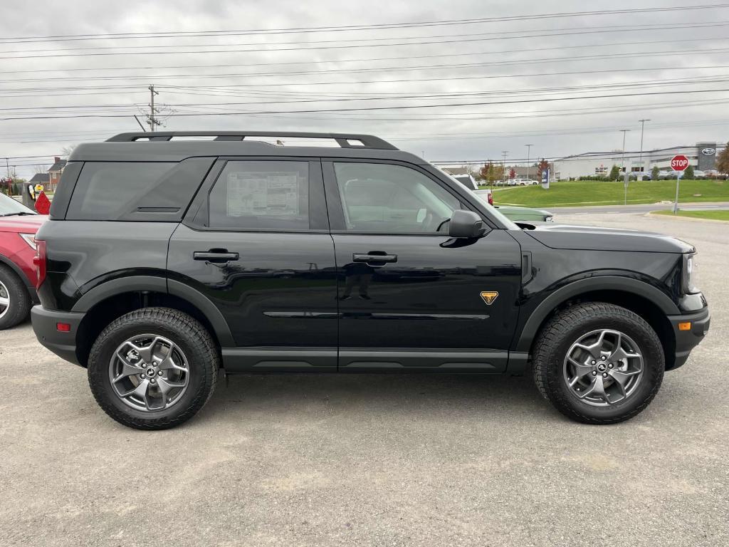
[[[623,182],[561,181],[542,185],[494,190],[497,205],[525,207],[569,207],[577,205],[619,205],[623,203]],[[630,182],[628,203],[674,201],[675,180]],[[729,180],[682,180],[679,203],[729,201]]]

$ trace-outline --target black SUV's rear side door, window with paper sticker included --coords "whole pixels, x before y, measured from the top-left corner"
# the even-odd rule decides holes
[[[319,162],[302,165],[229,161],[170,240],[169,279],[203,293],[230,328],[229,372],[336,368],[334,244],[307,230],[324,193]]]

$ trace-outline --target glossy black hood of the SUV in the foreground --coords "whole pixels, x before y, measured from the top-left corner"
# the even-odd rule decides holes
[[[585,251],[695,252],[693,245],[660,233],[539,223],[525,230],[529,236],[552,249]]]

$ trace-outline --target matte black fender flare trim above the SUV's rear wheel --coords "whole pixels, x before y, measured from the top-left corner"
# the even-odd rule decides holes
[[[189,285],[172,279],[165,279],[164,277],[130,276],[112,279],[86,292],[85,295],[77,300],[77,303],[74,304],[71,311],[85,313],[107,298],[122,294],[122,292],[141,290],[163,292],[179,297],[182,300],[187,300],[187,302],[199,309],[206,319],[208,319],[222,347],[235,346],[233,334],[230,333],[230,327],[228,327],[225,317],[223,317],[223,314],[217,309],[217,306],[206,295],[203,295],[202,292],[193,289]]]

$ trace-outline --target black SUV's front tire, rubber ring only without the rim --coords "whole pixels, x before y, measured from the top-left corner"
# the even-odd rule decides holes
[[[628,335],[643,356],[643,374],[634,392],[608,406],[580,400],[564,377],[572,344],[599,329]],[[615,424],[639,414],[658,392],[666,368],[663,346],[652,327],[632,311],[603,302],[577,304],[556,314],[539,333],[533,356],[534,381],[542,396],[565,416],[585,424]]]

